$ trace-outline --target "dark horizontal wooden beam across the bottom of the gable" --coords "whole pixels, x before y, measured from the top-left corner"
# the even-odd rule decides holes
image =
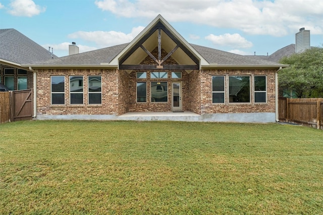
[[[120,65],[121,70],[198,70],[198,65],[163,65],[163,68],[158,68],[159,65]]]

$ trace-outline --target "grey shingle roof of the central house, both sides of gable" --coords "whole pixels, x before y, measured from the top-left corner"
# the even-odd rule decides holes
[[[33,63],[35,65],[100,65],[110,63],[129,43],[101,48],[93,51],[83,52],[76,55],[65,56],[43,62]],[[221,51],[214,48],[190,44],[209,63],[217,65],[277,65],[275,62],[254,59],[234,53]]]

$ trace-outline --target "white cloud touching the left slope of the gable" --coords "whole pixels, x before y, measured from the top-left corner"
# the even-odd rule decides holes
[[[129,34],[117,31],[77,31],[69,34],[68,37],[92,41],[95,42],[98,47],[107,47],[131,42],[143,29],[144,27],[142,26],[133,28]]]

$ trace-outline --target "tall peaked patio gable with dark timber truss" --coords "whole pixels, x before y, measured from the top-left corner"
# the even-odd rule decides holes
[[[157,55],[152,53],[156,48]],[[161,50],[167,52],[163,58]],[[153,64],[141,64],[147,56],[153,60]],[[166,64],[168,58],[172,58],[177,64]],[[158,15],[110,64],[118,64],[119,69],[126,70],[194,70],[200,68],[201,61],[206,62],[163,17]]]

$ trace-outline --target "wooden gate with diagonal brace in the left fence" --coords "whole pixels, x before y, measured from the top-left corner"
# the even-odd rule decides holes
[[[13,104],[11,121],[31,120],[33,113],[32,89],[11,92],[11,103]]]

